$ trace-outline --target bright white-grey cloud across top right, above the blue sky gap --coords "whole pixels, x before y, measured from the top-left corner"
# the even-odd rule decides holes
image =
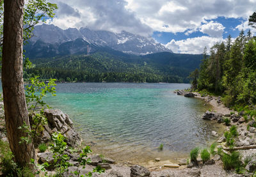
[[[256,0],[126,0],[126,8],[136,13],[156,31],[184,32],[195,30],[206,20],[216,17],[248,18],[255,10]],[[164,27],[167,25],[168,27]],[[189,32],[188,32],[189,33]]]

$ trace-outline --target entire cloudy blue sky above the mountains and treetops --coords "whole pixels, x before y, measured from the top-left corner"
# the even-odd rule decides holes
[[[52,0],[56,17],[49,19],[62,29],[89,27],[154,38],[175,53],[200,54],[231,35],[236,38],[248,26],[256,0]]]

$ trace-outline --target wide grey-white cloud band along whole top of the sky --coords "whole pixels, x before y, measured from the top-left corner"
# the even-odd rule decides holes
[[[246,19],[254,12],[256,3],[256,0],[49,1],[59,4],[60,9],[52,23],[60,27],[87,26],[114,32],[125,30],[140,35],[150,35],[153,31],[177,33],[195,30],[205,22],[205,19],[220,16]],[[70,15],[76,19],[69,19]],[[74,22],[65,22],[65,19]],[[211,31],[208,33],[212,36],[220,35]]]

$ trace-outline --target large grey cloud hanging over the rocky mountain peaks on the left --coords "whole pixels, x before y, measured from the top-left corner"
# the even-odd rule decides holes
[[[153,29],[143,24],[134,12],[127,10],[124,0],[55,0],[59,9],[56,17],[48,23],[63,29],[68,27],[89,27],[96,30],[120,32],[129,31],[140,35],[148,35]]]

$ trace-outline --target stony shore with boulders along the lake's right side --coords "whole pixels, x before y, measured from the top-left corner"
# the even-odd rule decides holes
[[[218,176],[252,176],[253,171],[256,169],[256,122],[255,116],[253,118],[244,116],[244,111],[236,112],[234,110],[228,109],[221,103],[220,96],[208,96],[200,95],[196,92],[186,92],[186,91],[175,91],[177,95],[183,95],[189,98],[201,98],[205,100],[205,104],[211,104],[213,107],[212,111],[207,111],[202,116],[202,119],[206,121],[217,121],[218,123],[223,123],[225,125],[225,119],[229,120],[229,125],[226,125],[225,131],[229,131],[230,127],[235,125],[237,127],[238,135],[234,142],[234,147],[232,150],[238,150],[241,155],[241,160],[244,161],[250,159],[245,169],[244,174],[236,174],[235,171],[223,171],[222,175]],[[246,117],[246,118],[245,118]],[[226,138],[224,135],[218,135],[216,132],[212,132],[212,135],[218,137],[218,148],[223,148],[225,153],[229,154],[230,148],[225,144]],[[216,158],[215,162],[218,164],[215,169],[223,168],[223,163],[220,159]],[[217,161],[216,161],[217,160]],[[188,165],[189,166],[189,165]],[[193,166],[193,165],[192,165]],[[204,167],[202,167],[204,169]],[[220,171],[221,171],[220,169]],[[210,176],[210,175],[208,175]]]

